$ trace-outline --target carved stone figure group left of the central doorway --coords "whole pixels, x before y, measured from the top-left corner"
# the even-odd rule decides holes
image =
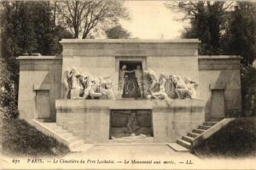
[[[64,99],[114,99],[108,77],[83,75],[76,68],[64,71]]]

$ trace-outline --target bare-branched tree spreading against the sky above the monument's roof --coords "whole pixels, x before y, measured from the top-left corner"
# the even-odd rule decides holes
[[[57,4],[58,19],[74,38],[87,38],[97,26],[111,26],[119,18],[128,19],[123,2],[119,1],[65,1]]]

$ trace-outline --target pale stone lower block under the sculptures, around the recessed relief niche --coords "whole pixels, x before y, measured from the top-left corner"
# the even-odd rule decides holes
[[[109,143],[111,111],[147,110],[152,114],[154,143],[168,143],[205,121],[204,104],[200,99],[57,99],[56,122],[85,143]]]

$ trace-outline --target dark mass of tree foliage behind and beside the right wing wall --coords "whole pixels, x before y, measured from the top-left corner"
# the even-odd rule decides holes
[[[255,96],[256,3],[253,2],[192,2],[176,4],[190,20],[183,37],[201,40],[200,54],[240,55],[241,99],[243,109]],[[168,8],[173,8],[167,3]],[[254,94],[253,94],[254,93]]]

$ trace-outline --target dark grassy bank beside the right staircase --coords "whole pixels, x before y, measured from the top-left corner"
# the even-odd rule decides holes
[[[252,120],[231,122],[194,150],[201,157],[256,156],[256,125]]]

